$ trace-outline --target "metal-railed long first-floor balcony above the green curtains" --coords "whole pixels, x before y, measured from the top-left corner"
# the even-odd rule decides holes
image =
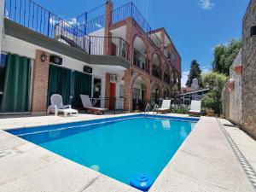
[[[5,18],[90,55],[126,57],[128,44],[122,38],[87,35],[32,0],[6,0]],[[99,19],[102,22],[102,18]],[[93,29],[91,29],[93,30]],[[110,46],[107,48],[107,42]]]

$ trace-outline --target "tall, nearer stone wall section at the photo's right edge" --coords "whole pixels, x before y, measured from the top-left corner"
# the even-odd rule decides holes
[[[256,0],[251,0],[243,19],[241,50],[242,61],[242,127],[256,138],[256,36],[251,37],[251,27],[256,26]]]

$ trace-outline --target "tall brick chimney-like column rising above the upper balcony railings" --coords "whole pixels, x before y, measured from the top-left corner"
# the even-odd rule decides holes
[[[110,32],[110,26],[112,24],[112,10],[113,10],[113,3],[111,0],[108,0],[106,3],[106,10],[105,10],[105,28],[104,28],[104,36],[111,37],[112,34]],[[104,38],[104,55],[111,54],[111,38]]]

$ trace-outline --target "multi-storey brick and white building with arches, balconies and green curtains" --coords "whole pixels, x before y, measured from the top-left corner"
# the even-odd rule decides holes
[[[76,24],[29,0],[6,0],[0,113],[45,113],[49,96],[81,108],[143,111],[180,90],[181,57],[165,28],[153,30],[134,3]]]

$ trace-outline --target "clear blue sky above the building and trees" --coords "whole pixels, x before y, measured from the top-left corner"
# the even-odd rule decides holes
[[[104,0],[35,0],[67,20],[104,3]],[[117,8],[131,0],[113,0]],[[133,0],[153,28],[166,27],[182,56],[183,84],[190,62],[203,72],[212,68],[212,49],[241,38],[241,20],[249,0]]]

